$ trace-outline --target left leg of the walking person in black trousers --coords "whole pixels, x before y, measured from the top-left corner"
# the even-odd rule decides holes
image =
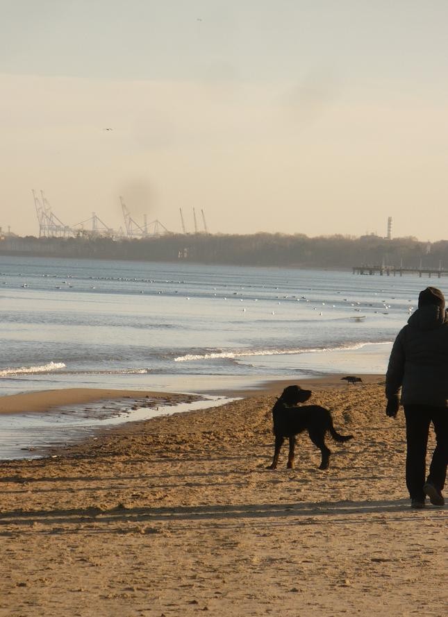
[[[406,487],[412,500],[424,502],[426,446],[429,424],[428,408],[424,405],[404,405],[406,417]]]

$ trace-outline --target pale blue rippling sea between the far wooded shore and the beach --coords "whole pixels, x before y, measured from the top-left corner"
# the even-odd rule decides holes
[[[384,373],[420,289],[351,271],[0,256],[0,394]]]

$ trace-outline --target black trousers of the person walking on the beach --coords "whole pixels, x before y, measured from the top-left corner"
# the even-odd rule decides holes
[[[445,486],[448,463],[448,409],[429,405],[404,405],[406,416],[406,486],[411,499],[424,501],[426,446],[429,426],[434,426],[437,445],[433,453],[427,482],[438,491]]]

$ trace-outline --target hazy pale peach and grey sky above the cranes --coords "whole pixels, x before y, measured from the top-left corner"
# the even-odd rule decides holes
[[[448,239],[446,0],[0,0],[0,226]],[[104,130],[113,128],[113,130]],[[198,222],[199,222],[198,216]]]

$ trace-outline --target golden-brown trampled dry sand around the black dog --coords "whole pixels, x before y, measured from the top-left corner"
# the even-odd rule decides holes
[[[367,381],[313,386],[356,436],[328,471],[305,436],[265,469],[272,387],[0,463],[0,616],[447,614],[447,509],[409,508],[403,414]]]

